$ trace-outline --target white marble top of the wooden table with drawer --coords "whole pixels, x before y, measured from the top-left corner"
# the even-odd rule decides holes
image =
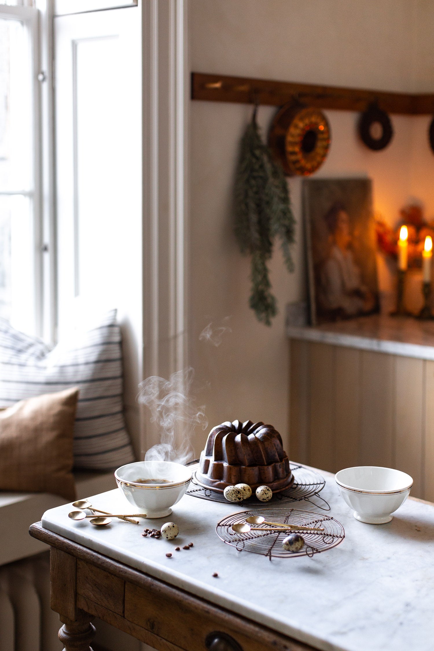
[[[98,529],[69,519],[71,506],[64,505],[48,510],[42,526],[323,651],[432,651],[434,506],[408,499],[390,523],[364,524],[353,518],[332,475],[323,474],[321,495],[346,537],[312,558],[269,561],[236,551],[215,525],[243,509],[189,495],[169,518],[144,525],[114,520]],[[103,510],[131,512],[117,489],[90,499]],[[321,512],[305,501],[290,506]],[[159,528],[167,519],[180,527],[176,540],[141,536],[144,526]],[[189,551],[174,551],[189,542]]]

